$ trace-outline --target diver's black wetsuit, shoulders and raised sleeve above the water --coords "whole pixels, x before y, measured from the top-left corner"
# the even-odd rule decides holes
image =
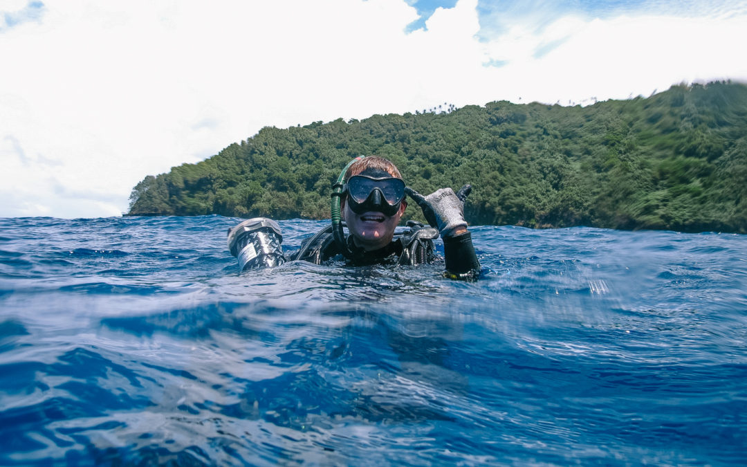
[[[436,247],[433,240],[438,230],[410,220],[405,232],[394,235],[391,243],[374,251],[365,251],[347,238],[347,247],[353,253],[347,261],[354,266],[364,265],[410,265],[417,266],[435,262]],[[474,279],[480,274],[480,262],[474,253],[469,232],[444,239],[446,274],[456,279]],[[299,250],[288,255],[289,260],[303,259],[320,265],[330,259],[344,259],[340,246],[332,235],[332,227],[320,230],[301,244]]]

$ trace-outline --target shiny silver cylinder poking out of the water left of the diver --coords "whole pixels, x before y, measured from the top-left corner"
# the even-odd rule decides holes
[[[280,244],[280,226],[267,217],[247,219],[229,229],[229,250],[238,258],[240,271],[282,265],[285,255]]]

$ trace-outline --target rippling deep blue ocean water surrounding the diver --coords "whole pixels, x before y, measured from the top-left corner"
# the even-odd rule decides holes
[[[238,222],[0,220],[0,465],[747,464],[747,235],[474,226],[459,282]]]

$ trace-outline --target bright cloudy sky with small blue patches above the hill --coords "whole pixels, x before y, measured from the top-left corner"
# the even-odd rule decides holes
[[[0,0],[0,217],[110,217],[264,126],[747,82],[747,0]]]

